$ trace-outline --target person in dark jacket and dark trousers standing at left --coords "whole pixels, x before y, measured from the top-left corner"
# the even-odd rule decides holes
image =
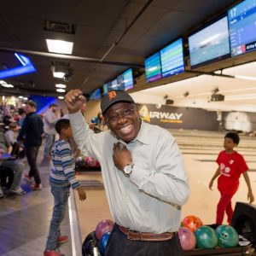
[[[38,172],[37,157],[38,150],[42,144],[42,135],[44,133],[44,123],[40,115],[36,113],[36,102],[26,102],[26,118],[20,129],[17,141],[23,141],[26,149],[26,158],[30,166],[30,171],[25,174],[28,181],[34,177],[35,183],[32,183],[31,189],[42,189],[41,178]]]

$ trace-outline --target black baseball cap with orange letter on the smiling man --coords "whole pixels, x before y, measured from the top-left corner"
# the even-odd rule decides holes
[[[132,97],[124,90],[110,90],[108,91],[108,94],[102,98],[102,113],[105,113],[110,106],[117,102],[135,103]]]

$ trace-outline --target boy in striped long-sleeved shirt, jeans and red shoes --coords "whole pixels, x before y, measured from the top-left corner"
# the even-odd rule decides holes
[[[60,139],[55,141],[52,150],[53,166],[49,174],[54,208],[44,256],[61,256],[55,249],[58,244],[68,241],[68,236],[61,236],[60,225],[65,216],[70,187],[79,192],[81,201],[86,198],[84,189],[75,177],[73,154],[68,143],[68,139],[73,137],[69,119],[59,119],[55,124],[55,130],[59,133]]]

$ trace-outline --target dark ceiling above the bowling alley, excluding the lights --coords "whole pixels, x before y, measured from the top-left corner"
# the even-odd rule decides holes
[[[11,0],[0,8],[0,63],[15,67],[14,52],[28,56],[37,69],[6,82],[2,93],[55,96],[50,66],[61,62],[73,73],[67,90],[84,93],[102,86],[129,67],[137,76],[143,61],[179,36],[241,1],[232,0]],[[45,26],[60,23],[61,32]],[[67,29],[68,32],[62,32]],[[73,41],[72,55],[49,54],[45,39]]]

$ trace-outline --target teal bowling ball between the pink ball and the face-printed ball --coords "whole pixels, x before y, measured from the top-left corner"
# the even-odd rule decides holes
[[[201,249],[212,249],[218,244],[216,232],[209,226],[201,226],[195,230],[195,238],[196,246]]]

